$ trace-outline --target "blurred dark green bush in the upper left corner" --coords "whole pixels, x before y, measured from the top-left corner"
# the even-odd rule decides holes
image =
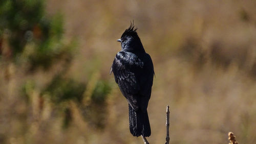
[[[74,42],[63,43],[61,15],[48,18],[44,1],[2,1],[0,36],[8,43],[2,59],[28,62],[30,70],[49,68],[59,60],[70,61]]]

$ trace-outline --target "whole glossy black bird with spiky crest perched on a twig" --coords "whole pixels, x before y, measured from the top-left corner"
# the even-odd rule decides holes
[[[115,81],[129,103],[129,124],[133,136],[150,136],[147,105],[151,97],[154,66],[131,22],[121,38],[122,50],[116,54],[111,66]]]

